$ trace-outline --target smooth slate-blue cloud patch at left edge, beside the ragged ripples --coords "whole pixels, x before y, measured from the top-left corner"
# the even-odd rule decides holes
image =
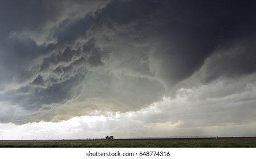
[[[27,64],[38,56],[38,47],[31,39],[10,39],[1,44],[1,84],[14,80],[24,82],[33,76],[34,72],[28,72]],[[3,87],[3,86],[2,86]]]

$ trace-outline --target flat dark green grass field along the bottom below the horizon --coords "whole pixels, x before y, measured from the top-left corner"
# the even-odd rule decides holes
[[[2,140],[0,147],[60,148],[256,148],[256,137],[218,139]]]

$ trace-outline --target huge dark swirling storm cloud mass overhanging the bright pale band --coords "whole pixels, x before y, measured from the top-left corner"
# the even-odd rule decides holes
[[[256,69],[254,1],[0,3],[0,102],[22,122],[140,110],[196,72],[212,82]]]

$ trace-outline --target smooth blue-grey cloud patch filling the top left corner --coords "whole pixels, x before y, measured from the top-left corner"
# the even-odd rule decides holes
[[[54,3],[34,0],[1,1],[0,35],[6,37],[11,31],[35,30],[46,21],[55,20],[60,9],[58,2]]]

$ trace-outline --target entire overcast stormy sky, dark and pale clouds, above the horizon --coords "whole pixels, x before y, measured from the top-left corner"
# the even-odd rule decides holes
[[[255,6],[0,1],[0,136],[256,136]]]

